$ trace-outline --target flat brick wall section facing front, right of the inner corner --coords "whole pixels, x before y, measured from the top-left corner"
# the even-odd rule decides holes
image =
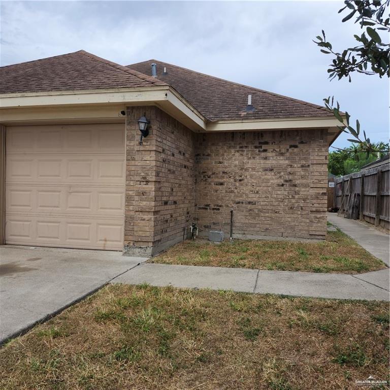
[[[326,130],[200,134],[196,219],[234,237],[324,238]]]

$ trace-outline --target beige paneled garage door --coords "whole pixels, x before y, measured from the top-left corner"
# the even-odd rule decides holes
[[[6,243],[122,249],[124,124],[7,127]]]

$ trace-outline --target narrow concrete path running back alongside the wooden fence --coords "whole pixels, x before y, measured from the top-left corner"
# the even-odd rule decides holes
[[[390,236],[388,234],[380,232],[374,226],[371,228],[365,223],[338,216],[337,213],[328,213],[328,221],[389,266]]]

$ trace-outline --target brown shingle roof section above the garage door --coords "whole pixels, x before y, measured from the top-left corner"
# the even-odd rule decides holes
[[[0,93],[167,85],[84,50],[0,68]]]

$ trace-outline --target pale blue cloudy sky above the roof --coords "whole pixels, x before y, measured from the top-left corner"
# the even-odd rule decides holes
[[[328,79],[331,56],[312,42],[324,29],[335,50],[361,34],[342,23],[341,1],[1,2],[0,64],[86,50],[127,65],[157,59],[322,105],[334,95],[371,141],[388,142],[388,79]],[[333,144],[350,143],[342,134]]]

